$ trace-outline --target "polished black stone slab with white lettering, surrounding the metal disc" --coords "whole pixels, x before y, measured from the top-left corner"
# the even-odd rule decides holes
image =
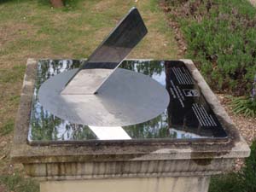
[[[73,143],[104,142],[101,134],[108,134],[111,127],[90,127],[71,124],[55,117],[38,102],[38,89],[45,80],[58,73],[77,68],[83,61],[38,61],[38,74],[32,100],[32,113],[28,142]],[[121,132],[112,140],[160,141],[173,139],[225,139],[223,125],[212,112],[201,90],[182,61],[123,61],[119,66],[143,73],[166,87],[170,103],[164,113],[142,124],[119,127]],[[107,132],[104,132],[107,131]],[[111,133],[111,131],[110,131]],[[125,133],[125,137],[124,137]],[[104,136],[103,136],[104,138]],[[111,139],[108,136],[108,139]]]

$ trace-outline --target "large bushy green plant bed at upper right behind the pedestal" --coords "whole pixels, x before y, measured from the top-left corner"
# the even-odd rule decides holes
[[[256,9],[247,0],[166,0],[176,12],[188,57],[207,83],[248,95],[256,73]]]

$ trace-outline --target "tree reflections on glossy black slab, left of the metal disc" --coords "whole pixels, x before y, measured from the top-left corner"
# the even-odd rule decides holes
[[[34,100],[32,102],[32,121],[30,138],[32,140],[83,140],[95,139],[96,136],[88,126],[70,124],[44,110],[38,102],[38,90],[45,80],[58,73],[79,67],[80,61],[49,61],[38,62],[38,77],[35,83]]]

